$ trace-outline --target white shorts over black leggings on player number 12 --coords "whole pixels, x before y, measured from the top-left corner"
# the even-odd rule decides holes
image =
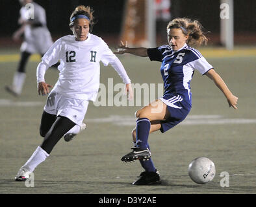
[[[65,116],[77,125],[81,125],[88,108],[88,101],[83,99],[67,98],[51,91],[44,106],[44,111],[56,116]]]

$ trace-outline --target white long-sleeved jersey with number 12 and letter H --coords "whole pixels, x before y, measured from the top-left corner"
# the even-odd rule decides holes
[[[53,90],[69,98],[96,100],[99,90],[99,62],[112,65],[123,79],[131,83],[122,63],[109,49],[103,39],[88,33],[84,41],[76,41],[75,36],[58,39],[42,58],[37,69],[37,82],[45,82],[45,71],[60,60],[59,78]]]

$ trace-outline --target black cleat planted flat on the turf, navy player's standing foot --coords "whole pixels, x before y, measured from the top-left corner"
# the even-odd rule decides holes
[[[157,171],[157,169],[155,170],[155,172],[144,171],[140,173],[140,176],[138,178],[138,180],[135,180],[133,182],[133,185],[145,186],[161,184],[159,171]]]

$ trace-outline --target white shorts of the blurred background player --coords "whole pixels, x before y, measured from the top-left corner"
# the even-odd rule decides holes
[[[51,34],[45,27],[38,27],[31,30],[31,34],[25,36],[25,41],[21,44],[21,52],[26,51],[31,54],[45,54],[53,45]]]

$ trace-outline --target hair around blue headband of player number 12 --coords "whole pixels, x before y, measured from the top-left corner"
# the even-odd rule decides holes
[[[71,21],[71,19],[74,16],[82,14],[90,19],[90,23],[89,23],[90,30],[89,31],[92,32],[92,28],[96,24],[94,16],[92,15],[93,13],[94,13],[94,10],[92,10],[92,8],[90,8],[90,6],[84,6],[84,5],[77,6],[70,16],[70,27],[73,27],[74,21],[75,21],[75,20]]]

